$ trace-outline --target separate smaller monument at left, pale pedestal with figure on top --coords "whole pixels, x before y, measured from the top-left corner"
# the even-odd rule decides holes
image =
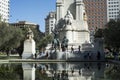
[[[33,40],[33,32],[28,28],[27,39],[24,41],[24,50],[22,54],[22,59],[33,58],[35,51],[35,41]]]

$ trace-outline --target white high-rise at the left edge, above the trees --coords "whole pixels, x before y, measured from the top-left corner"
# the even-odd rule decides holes
[[[1,21],[9,22],[9,0],[0,0]]]

